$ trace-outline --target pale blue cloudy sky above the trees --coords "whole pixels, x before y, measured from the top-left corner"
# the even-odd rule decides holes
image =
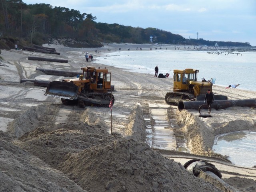
[[[78,10],[92,14],[96,22],[152,27],[187,39],[249,42],[256,46],[256,0],[22,1]]]

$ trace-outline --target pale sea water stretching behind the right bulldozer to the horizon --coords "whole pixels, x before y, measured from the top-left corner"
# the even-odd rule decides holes
[[[216,85],[240,84],[239,89],[256,91],[256,52],[219,52],[192,50],[132,50],[108,52],[97,57],[96,63],[115,66],[124,70],[154,74],[170,73],[174,69],[193,68],[199,70],[198,80],[216,78]],[[214,54],[213,54],[214,53]]]

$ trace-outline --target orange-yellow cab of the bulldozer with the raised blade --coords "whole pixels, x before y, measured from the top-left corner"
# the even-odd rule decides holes
[[[90,82],[90,90],[108,91],[111,88],[111,73],[108,69],[95,67],[82,67],[83,75]]]

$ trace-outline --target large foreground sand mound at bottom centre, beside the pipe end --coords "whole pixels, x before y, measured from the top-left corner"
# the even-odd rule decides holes
[[[72,154],[59,170],[88,191],[218,191],[181,164],[133,139],[118,139]]]

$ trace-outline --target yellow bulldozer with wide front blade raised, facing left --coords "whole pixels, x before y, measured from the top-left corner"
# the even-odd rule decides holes
[[[45,96],[61,98],[63,104],[108,107],[112,95],[111,73],[108,69],[82,67],[82,74],[74,79],[52,81],[48,84]]]

